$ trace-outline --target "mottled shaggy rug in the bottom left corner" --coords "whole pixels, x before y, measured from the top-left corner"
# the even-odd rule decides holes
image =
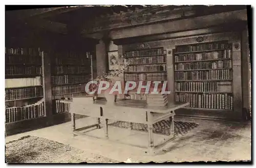
[[[36,136],[6,143],[7,163],[113,163],[115,160],[88,153]]]

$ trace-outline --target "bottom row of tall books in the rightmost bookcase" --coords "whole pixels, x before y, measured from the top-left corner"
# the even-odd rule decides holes
[[[189,102],[188,107],[208,109],[233,109],[233,97],[228,94],[175,94],[176,101]]]

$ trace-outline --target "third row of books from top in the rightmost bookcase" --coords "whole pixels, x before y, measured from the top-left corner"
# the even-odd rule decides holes
[[[179,63],[174,65],[175,70],[196,70],[196,69],[221,69],[232,68],[231,60],[220,60],[203,63]]]

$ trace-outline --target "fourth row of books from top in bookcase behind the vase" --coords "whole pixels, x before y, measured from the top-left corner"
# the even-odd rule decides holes
[[[135,80],[158,80],[163,81],[167,79],[167,74],[164,72],[158,73],[141,73],[141,74],[124,74],[126,81]]]

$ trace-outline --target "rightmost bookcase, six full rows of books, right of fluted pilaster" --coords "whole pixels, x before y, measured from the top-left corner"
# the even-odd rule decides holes
[[[232,48],[228,41],[177,45],[175,101],[187,109],[233,110]]]

